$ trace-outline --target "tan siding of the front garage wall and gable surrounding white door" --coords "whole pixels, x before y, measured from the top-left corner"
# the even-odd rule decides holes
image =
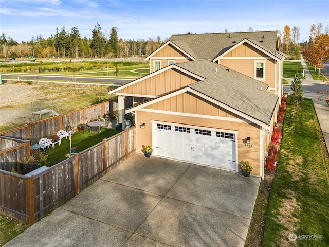
[[[182,107],[182,105],[188,107]],[[184,114],[179,115],[177,112]],[[191,115],[189,116],[188,114]],[[198,114],[199,117],[192,114]],[[245,121],[244,119],[239,119],[240,121],[230,121],[230,118],[237,119],[237,116],[207,100],[188,93],[183,93],[149,105],[145,110],[137,111],[137,116],[137,126],[145,123],[144,129],[139,128],[137,130],[137,152],[142,152],[143,145],[152,144],[152,120],[178,123],[180,125],[238,131],[236,136],[238,145],[237,162],[241,163],[244,160],[250,161],[254,167],[253,174],[260,175],[259,126]],[[218,117],[218,119],[210,119],[207,116]],[[226,119],[220,120],[219,117],[226,117]],[[229,129],[227,128],[228,126]],[[247,136],[249,136],[251,140],[254,140],[253,143],[251,142],[252,147],[245,146],[244,139]]]

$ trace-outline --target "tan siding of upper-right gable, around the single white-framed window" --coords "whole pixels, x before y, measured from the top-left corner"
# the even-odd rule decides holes
[[[219,63],[254,78],[254,61],[256,60],[265,61],[265,80],[262,81],[268,84],[272,89],[275,89],[275,60],[272,58],[270,59],[266,54],[249,44],[242,44],[231,50],[220,59]],[[269,91],[274,93],[271,90]]]

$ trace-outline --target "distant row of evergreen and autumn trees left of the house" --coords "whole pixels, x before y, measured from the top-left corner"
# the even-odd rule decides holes
[[[107,34],[99,23],[92,30],[92,38],[81,38],[79,28],[67,31],[56,28],[54,36],[45,39],[40,35],[32,37],[29,42],[19,44],[13,38],[0,36],[0,57],[40,57],[40,58],[105,58],[132,57],[151,54],[163,44],[160,37],[156,41],[123,40],[118,37],[118,28],[112,27]]]

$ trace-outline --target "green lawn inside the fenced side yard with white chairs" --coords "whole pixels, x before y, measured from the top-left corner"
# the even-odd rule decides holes
[[[77,152],[81,152],[87,148],[94,146],[102,142],[103,139],[109,138],[119,133],[115,129],[102,128],[101,133],[90,134],[88,131],[76,131],[72,135],[72,147],[77,147]],[[63,160],[66,160],[66,154],[70,153],[70,142],[69,139],[63,138],[62,144],[51,146],[47,149],[46,154],[48,155],[49,166],[53,166]]]

